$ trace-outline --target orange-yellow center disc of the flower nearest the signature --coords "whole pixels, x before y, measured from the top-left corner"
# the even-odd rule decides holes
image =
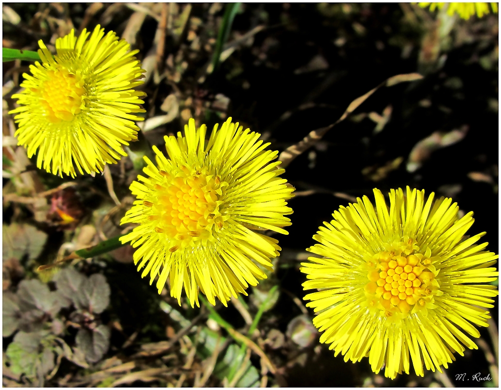
[[[374,303],[381,306],[387,317],[394,312],[405,314],[416,305],[423,307],[431,303],[433,292],[438,287],[435,274],[431,270],[425,271],[426,268],[434,270],[430,259],[412,252],[414,250],[397,248],[374,255],[376,269],[367,274],[369,282],[364,289],[369,296],[379,298],[379,302],[373,302],[372,306]]]

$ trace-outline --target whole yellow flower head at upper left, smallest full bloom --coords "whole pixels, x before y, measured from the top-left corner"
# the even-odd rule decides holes
[[[90,35],[90,38],[89,38]],[[87,39],[89,38],[89,39]],[[75,166],[83,172],[102,171],[105,163],[115,163],[127,155],[122,145],[137,139],[142,120],[133,113],[145,112],[134,91],[141,85],[144,70],[118,40],[98,25],[85,29],[77,38],[70,34],[56,40],[57,54],[51,55],[42,41],[38,61],[30,66],[32,75],[23,74],[25,90],[13,95],[20,107],[16,136],[28,148],[28,157],[38,150],[37,166],[54,174],[75,177]],[[51,167],[52,162],[52,167]]]

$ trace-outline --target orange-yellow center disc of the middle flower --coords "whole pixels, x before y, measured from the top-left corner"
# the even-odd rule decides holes
[[[207,240],[212,230],[224,227],[224,217],[219,212],[221,182],[205,168],[189,169],[181,167],[177,175],[160,171],[164,177],[161,184],[155,184],[158,202],[146,206],[153,208],[151,221],[158,221],[155,231],[165,234],[174,245],[169,249],[175,252],[197,240]]]

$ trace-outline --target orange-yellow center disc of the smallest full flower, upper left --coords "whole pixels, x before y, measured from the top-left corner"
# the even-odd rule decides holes
[[[51,123],[71,121],[81,111],[82,96],[86,93],[82,78],[67,69],[48,71],[47,76],[49,79],[40,89],[33,88],[32,92],[40,97],[40,104]]]

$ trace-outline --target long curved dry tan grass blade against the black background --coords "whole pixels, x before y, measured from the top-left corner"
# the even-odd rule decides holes
[[[369,96],[371,96],[379,88],[384,87],[384,86],[390,87],[392,85],[396,85],[398,83],[402,83],[405,81],[414,81],[414,80],[419,80],[422,78],[423,78],[423,76],[421,76],[418,73],[396,75],[396,76],[390,77],[389,79],[385,80],[384,82],[379,84],[376,88],[371,89],[369,92],[365,93],[364,95],[356,98],[348,105],[348,108],[345,110],[343,115],[341,115],[341,117],[336,122],[330,124],[329,126],[310,131],[310,133],[306,137],[304,137],[303,140],[301,140],[297,144],[289,146],[286,150],[284,150],[282,153],[280,153],[279,160],[282,161],[282,164],[280,165],[280,167],[285,168],[297,156],[299,156],[305,150],[307,150],[311,146],[313,146],[330,129],[332,129],[339,122],[342,122],[343,120],[345,120],[348,117],[348,115],[350,115],[353,111],[355,111],[355,109],[357,109],[365,100],[367,100],[367,98]]]

